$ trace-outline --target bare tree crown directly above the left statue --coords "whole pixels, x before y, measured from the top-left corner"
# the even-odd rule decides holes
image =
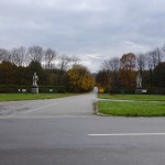
[[[41,46],[31,46],[28,51],[29,57],[33,62],[42,63],[43,61],[43,48]]]

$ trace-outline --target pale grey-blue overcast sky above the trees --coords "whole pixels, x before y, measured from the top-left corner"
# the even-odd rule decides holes
[[[91,72],[164,43],[165,0],[0,0],[0,47],[52,47]]]

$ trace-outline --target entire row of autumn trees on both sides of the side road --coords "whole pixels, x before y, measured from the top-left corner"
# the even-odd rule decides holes
[[[107,91],[134,89],[138,73],[143,88],[165,88],[165,45],[147,53],[123,54],[106,59],[91,76],[80,59],[41,46],[0,48],[0,85],[32,85],[34,72],[40,86],[65,86],[68,91],[89,91],[96,85]]]

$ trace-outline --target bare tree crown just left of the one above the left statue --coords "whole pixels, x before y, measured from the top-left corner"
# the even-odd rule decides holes
[[[19,47],[19,48],[13,48],[11,51],[11,56],[12,56],[12,63],[14,63],[18,66],[24,66],[25,65],[25,57],[26,57],[26,51],[25,47]]]

